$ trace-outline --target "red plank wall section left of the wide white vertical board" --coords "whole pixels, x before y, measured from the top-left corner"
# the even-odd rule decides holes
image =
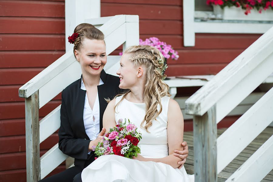
[[[18,89],[65,53],[64,0],[0,3],[0,181],[26,181],[25,99]],[[39,110],[55,109],[60,94]],[[54,133],[41,155],[58,143]],[[65,163],[49,174],[65,170]]]

